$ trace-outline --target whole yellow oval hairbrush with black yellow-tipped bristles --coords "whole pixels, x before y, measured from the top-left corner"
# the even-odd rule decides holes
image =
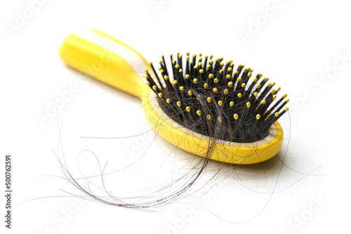
[[[70,67],[139,97],[147,121],[171,144],[225,163],[260,163],[283,144],[278,119],[286,95],[262,74],[232,60],[189,53],[164,56],[159,69],[136,50],[99,31],[68,36],[60,57]],[[171,65],[169,65],[171,64]],[[235,68],[234,68],[235,67]]]

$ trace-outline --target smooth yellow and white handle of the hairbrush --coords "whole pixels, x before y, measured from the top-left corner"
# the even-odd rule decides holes
[[[150,92],[145,83],[149,64],[133,48],[96,30],[67,36],[60,48],[60,57],[70,67],[142,98]]]

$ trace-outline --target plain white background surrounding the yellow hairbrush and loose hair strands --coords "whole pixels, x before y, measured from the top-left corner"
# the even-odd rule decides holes
[[[347,1],[282,0],[269,18],[263,9],[275,6],[271,0],[51,0],[36,5],[33,15],[28,13],[29,5],[22,0],[0,4],[1,177],[4,156],[11,153],[15,204],[13,229],[6,233],[350,233]],[[18,15],[25,14],[26,22],[16,26]],[[9,25],[17,28],[11,32]],[[291,128],[286,118],[282,151],[262,165],[228,165],[220,172],[217,190],[161,209],[77,202],[60,190],[82,195],[59,178],[55,153],[61,125],[62,149],[72,171],[78,170],[77,156],[85,149],[96,153],[102,165],[110,160],[107,172],[141,158],[128,170],[106,178],[110,189],[121,195],[151,188],[154,179],[148,178],[162,179],[164,170],[179,172],[182,163],[193,157],[183,151],[172,152],[176,159],[168,156],[173,147],[159,137],[153,141],[150,135],[80,138],[126,137],[150,130],[140,100],[98,81],[86,82],[60,60],[62,41],[82,29],[110,34],[155,63],[162,54],[190,51],[233,59],[270,77],[291,99]],[[244,31],[250,37],[243,39]],[[343,56],[346,59],[340,60]],[[48,104],[72,83],[79,92],[58,116],[41,125],[38,113],[46,114]],[[280,174],[278,157],[285,157],[286,163]],[[168,162],[162,164],[166,158]],[[91,155],[82,156],[78,163],[96,166]],[[216,169],[216,163],[211,167]],[[2,233],[5,200],[1,197]],[[185,202],[204,208],[190,214]]]

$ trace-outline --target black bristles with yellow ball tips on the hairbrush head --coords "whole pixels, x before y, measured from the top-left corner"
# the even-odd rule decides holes
[[[179,53],[171,55],[171,69],[162,55],[159,73],[150,63],[155,76],[145,70],[161,108],[185,128],[213,139],[256,142],[288,111],[283,109],[289,102],[286,95],[277,99],[280,88],[275,90],[275,83],[262,74],[252,76],[250,67],[239,64],[234,69],[232,60],[188,55],[185,64]]]

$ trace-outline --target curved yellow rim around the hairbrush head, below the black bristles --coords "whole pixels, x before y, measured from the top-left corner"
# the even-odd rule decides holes
[[[167,142],[197,156],[207,156],[208,137],[188,130],[164,113],[156,95],[150,92],[143,98],[147,121],[158,135]],[[234,164],[261,163],[275,156],[282,148],[283,130],[278,121],[270,128],[270,133],[258,142],[237,143],[218,140],[209,155],[212,160]]]

